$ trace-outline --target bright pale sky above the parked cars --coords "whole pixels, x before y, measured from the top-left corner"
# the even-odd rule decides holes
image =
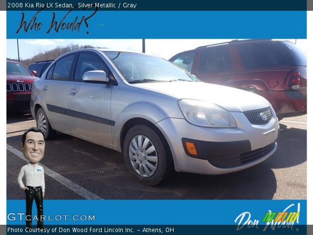
[[[169,59],[181,51],[231,40],[232,39],[146,39],[146,53]],[[295,42],[295,39],[288,40],[293,43]],[[11,59],[18,59],[17,40],[7,39],[6,42],[6,56]],[[19,39],[20,58],[28,59],[38,53],[59,46],[65,47],[70,44],[107,47],[113,50],[142,51],[141,39]],[[304,51],[307,50],[306,39],[297,39],[296,45]]]

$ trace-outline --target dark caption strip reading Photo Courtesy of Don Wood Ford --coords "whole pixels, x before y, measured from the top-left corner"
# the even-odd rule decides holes
[[[143,219],[143,218],[138,218]],[[7,235],[307,235],[306,225],[48,225],[6,226]]]

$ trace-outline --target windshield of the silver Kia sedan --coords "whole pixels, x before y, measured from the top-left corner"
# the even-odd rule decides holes
[[[199,81],[190,73],[159,57],[132,52],[103,52],[129,83]]]

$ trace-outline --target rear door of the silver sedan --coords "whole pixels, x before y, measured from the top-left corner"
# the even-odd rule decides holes
[[[66,108],[68,91],[73,83],[71,71],[75,57],[76,53],[73,53],[59,59],[47,72],[42,86],[47,115],[52,127],[66,131],[70,130]]]

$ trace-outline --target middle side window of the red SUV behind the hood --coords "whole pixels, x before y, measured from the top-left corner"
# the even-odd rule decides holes
[[[201,53],[199,73],[217,73],[232,71],[228,47],[209,47]]]

